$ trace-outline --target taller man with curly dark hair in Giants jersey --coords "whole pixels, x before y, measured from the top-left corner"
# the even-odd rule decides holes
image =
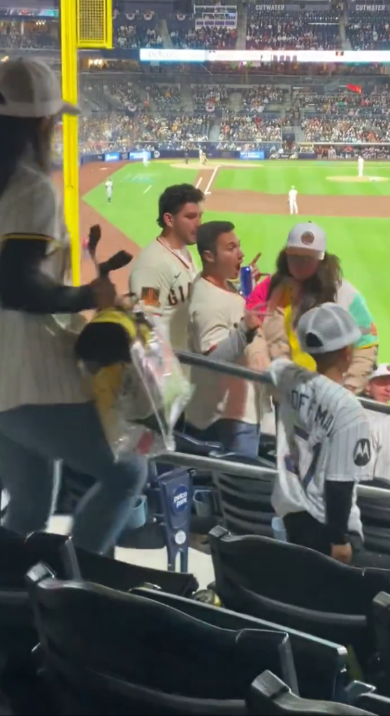
[[[130,296],[162,316],[175,349],[187,349],[188,299],[196,276],[188,246],[196,243],[204,194],[192,184],[169,186],[158,202],[160,236],[134,262]]]

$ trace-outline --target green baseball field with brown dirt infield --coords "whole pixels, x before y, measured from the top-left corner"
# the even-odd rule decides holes
[[[104,182],[114,183],[112,203]],[[205,221],[235,223],[245,261],[261,251],[260,269],[271,272],[296,221],[312,220],[328,234],[328,250],[341,258],[344,275],[366,297],[378,326],[380,357],[390,361],[390,163],[219,161],[200,168],[168,161],[84,165],[80,174],[82,232],[101,223],[105,256],[127,248],[135,255],[158,233],[157,200],[171,184],[206,193]],[[298,190],[299,216],[289,215],[288,190]],[[84,233],[83,233],[84,236]],[[87,259],[83,274],[92,267]],[[125,281],[125,273],[120,279]],[[123,286],[125,288],[125,286]]]

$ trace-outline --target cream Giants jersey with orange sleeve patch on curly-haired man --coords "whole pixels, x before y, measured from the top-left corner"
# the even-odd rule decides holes
[[[141,251],[130,273],[130,296],[162,316],[175,350],[188,349],[188,301],[196,273],[189,251],[173,251],[163,238]]]

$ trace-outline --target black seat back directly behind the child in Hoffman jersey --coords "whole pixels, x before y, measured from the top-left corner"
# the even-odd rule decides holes
[[[209,538],[225,606],[353,647],[367,675],[375,652],[372,602],[389,591],[390,572],[346,566],[266,537],[231,536],[220,527]]]

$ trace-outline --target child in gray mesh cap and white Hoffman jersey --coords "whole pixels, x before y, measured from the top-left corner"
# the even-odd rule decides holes
[[[318,372],[276,359],[270,373],[278,400],[278,477],[272,503],[288,541],[351,563],[364,556],[356,484],[371,478],[369,420],[343,387],[359,328],[337,304],[298,321],[301,348]]]

